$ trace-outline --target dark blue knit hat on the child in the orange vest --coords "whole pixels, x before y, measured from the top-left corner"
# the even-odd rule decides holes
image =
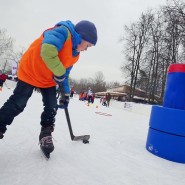
[[[90,21],[80,21],[75,25],[75,30],[81,35],[82,39],[96,45],[97,42],[97,30],[95,25]]]

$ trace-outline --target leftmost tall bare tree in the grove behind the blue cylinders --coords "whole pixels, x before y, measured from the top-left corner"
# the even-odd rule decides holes
[[[125,39],[125,53],[127,64],[123,65],[122,70],[130,72],[130,93],[129,101],[132,101],[137,86],[139,71],[143,62],[144,46],[148,40],[148,29],[152,19],[150,11],[142,14],[140,20],[130,27],[125,26],[127,37]]]

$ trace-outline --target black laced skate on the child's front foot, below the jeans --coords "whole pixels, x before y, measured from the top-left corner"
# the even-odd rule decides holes
[[[40,148],[43,154],[47,158],[50,157],[50,153],[53,152],[54,150],[54,145],[53,145],[52,135],[51,135],[53,130],[54,128],[52,126],[42,127],[39,135]]]

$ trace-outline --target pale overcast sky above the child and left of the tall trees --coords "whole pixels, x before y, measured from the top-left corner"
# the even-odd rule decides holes
[[[21,50],[59,21],[90,20],[97,27],[98,42],[81,53],[71,77],[94,78],[102,71],[106,81],[123,83],[123,44],[119,42],[123,26],[137,21],[147,9],[165,4],[166,0],[0,0],[0,28],[7,29]]]

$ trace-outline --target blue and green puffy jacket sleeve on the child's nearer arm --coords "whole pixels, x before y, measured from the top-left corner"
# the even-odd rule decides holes
[[[43,36],[41,46],[41,57],[43,61],[54,75],[64,75],[66,69],[58,57],[58,52],[62,49],[65,41],[70,37],[69,31],[66,27],[60,26],[45,31]]]

